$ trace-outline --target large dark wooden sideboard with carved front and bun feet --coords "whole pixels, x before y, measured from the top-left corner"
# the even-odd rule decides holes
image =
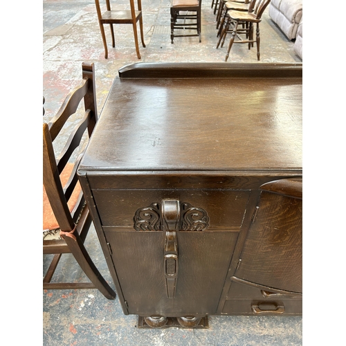
[[[302,64],[124,66],[78,175],[125,314],[302,313]]]

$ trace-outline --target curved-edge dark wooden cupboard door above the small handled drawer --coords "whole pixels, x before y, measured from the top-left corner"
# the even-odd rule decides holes
[[[261,188],[235,277],[302,293],[302,179]]]

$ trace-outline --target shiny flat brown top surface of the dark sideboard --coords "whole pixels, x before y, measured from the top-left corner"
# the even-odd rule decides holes
[[[116,78],[80,170],[302,168],[302,78]]]

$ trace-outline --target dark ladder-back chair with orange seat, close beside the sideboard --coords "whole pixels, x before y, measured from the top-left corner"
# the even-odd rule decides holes
[[[82,154],[75,159],[75,152],[86,144],[81,144],[81,139],[86,137],[87,142],[98,118],[93,64],[82,64],[82,76],[82,83],[69,93],[57,115],[49,124],[43,125],[43,253],[55,254],[44,277],[43,286],[44,289],[99,289],[106,298],[114,299],[116,293],[104,280],[84,247],[84,240],[91,225],[91,215],[76,174]],[[62,152],[55,158],[53,140],[83,99],[84,116],[71,132]],[[66,129],[69,127],[65,126],[64,131]],[[86,129],[87,135],[84,135]],[[85,139],[82,142],[85,142]],[[51,282],[62,253],[72,253],[91,282]]]

